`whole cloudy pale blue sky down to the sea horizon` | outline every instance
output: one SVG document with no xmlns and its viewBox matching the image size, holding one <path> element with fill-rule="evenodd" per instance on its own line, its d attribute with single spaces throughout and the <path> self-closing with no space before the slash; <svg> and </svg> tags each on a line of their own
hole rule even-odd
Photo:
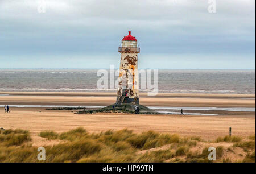
<svg viewBox="0 0 256 174">
<path fill-rule="evenodd" d="M 0 0 L 0 68 L 119 68 L 128 31 L 139 68 L 255 69 L 254 0 Z"/>
</svg>

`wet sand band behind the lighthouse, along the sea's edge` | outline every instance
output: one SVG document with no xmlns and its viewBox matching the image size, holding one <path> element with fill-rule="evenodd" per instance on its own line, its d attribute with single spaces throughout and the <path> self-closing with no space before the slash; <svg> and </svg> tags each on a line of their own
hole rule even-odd
<svg viewBox="0 0 256 174">
<path fill-rule="evenodd" d="M 6 96 L 7 94 L 7 96 Z M 92 93 L 76 93 L 76 95 L 63 95 L 63 93 L 24 93 L 5 92 L 0 95 L 0 105 L 70 105 L 70 106 L 107 106 L 115 102 L 113 93 L 109 96 L 93 96 Z M 159 94 L 160 95 L 160 94 Z M 147 96 L 139 98 L 145 106 L 183 106 L 183 107 L 255 107 L 255 95 L 245 94 L 164 94 L 165 97 Z M 190 96 L 193 97 L 190 97 Z M 197 96 L 197 97 L 196 97 Z M 215 96 L 215 98 L 212 98 Z M 217 98 L 218 97 L 218 98 Z M 251 97 L 251 98 L 250 98 Z"/>
</svg>

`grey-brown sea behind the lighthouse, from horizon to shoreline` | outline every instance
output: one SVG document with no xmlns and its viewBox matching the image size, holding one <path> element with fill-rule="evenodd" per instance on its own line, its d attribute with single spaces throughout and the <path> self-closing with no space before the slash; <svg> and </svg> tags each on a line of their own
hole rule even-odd
<svg viewBox="0 0 256 174">
<path fill-rule="evenodd" d="M 101 70 L 0 69 L 0 91 L 115 92 L 116 89 L 110 88 L 110 85 L 105 89 L 97 87 L 97 81 L 102 77 L 99 71 Z M 109 69 L 106 71 L 109 81 L 113 74 L 109 73 Z M 115 74 L 117 80 L 118 73 Z M 153 78 L 151 84 L 154 84 Z M 255 70 L 158 69 L 158 93 L 255 94 Z"/>
</svg>

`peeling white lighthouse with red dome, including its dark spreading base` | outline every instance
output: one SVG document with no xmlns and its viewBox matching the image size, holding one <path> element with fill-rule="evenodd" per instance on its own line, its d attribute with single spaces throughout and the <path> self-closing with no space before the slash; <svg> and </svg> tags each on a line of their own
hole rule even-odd
<svg viewBox="0 0 256 174">
<path fill-rule="evenodd" d="M 137 39 L 131 35 L 123 37 L 118 52 L 121 53 L 117 100 L 113 105 L 96 110 L 84 110 L 80 113 L 135 113 L 135 114 L 159 114 L 146 106 L 139 104 L 139 76 L 138 53 L 140 48 Z"/>
</svg>

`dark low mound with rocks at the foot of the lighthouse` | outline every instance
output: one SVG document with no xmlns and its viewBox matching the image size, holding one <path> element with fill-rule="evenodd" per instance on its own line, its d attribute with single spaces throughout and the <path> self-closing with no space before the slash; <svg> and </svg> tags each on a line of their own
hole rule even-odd
<svg viewBox="0 0 256 174">
<path fill-rule="evenodd" d="M 135 113 L 135 107 L 139 107 L 139 114 L 159 114 L 157 111 L 149 109 L 146 106 L 132 103 L 123 103 L 118 107 L 115 107 L 115 104 L 106 106 L 101 109 L 94 110 L 83 110 L 77 112 L 77 114 L 92 114 L 92 113 Z"/>
</svg>

